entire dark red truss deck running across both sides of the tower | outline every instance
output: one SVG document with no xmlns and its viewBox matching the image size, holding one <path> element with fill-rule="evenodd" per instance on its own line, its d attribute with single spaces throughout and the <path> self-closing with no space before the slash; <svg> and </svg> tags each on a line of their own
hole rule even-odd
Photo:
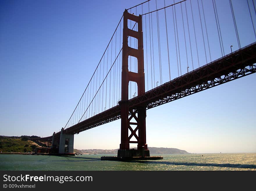
<svg viewBox="0 0 256 191">
<path fill-rule="evenodd" d="M 141 96 L 130 99 L 129 108 L 132 109 L 138 106 L 146 107 L 147 109 L 154 108 L 164 103 L 253 74 L 256 72 L 255 63 L 256 42 L 164 83 Z M 115 106 L 65 129 L 64 132 L 76 134 L 120 119 L 120 117 L 120 107 Z M 55 137 L 58 138 L 59 136 L 60 132 L 56 133 Z M 52 136 L 40 138 L 41 141 L 51 139 Z"/>
</svg>

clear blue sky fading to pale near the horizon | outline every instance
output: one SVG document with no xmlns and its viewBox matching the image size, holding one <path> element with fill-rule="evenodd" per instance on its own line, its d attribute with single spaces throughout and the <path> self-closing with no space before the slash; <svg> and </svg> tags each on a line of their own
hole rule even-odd
<svg viewBox="0 0 256 191">
<path fill-rule="evenodd" d="M 1 1 L 0 135 L 45 137 L 65 126 L 124 9 L 141 2 Z M 205 8 L 210 6 L 209 2 L 204 4 Z M 240 1 L 232 2 L 234 7 L 239 6 Z M 220 5 L 220 1 L 216 3 Z M 246 6 L 241 4 L 241 17 L 236 18 L 241 25 L 242 47 L 255 41 L 249 17 L 243 17 Z M 218 7 L 221 17 L 224 8 Z M 159 11 L 159 17 L 162 14 Z M 222 16 L 227 14 L 224 12 Z M 256 26 L 255 13 L 252 14 Z M 248 30 L 244 31 L 250 33 L 241 31 L 243 22 L 248 22 Z M 232 24 L 232 20 L 221 22 L 222 28 Z M 171 28 L 170 22 L 168 30 Z M 233 50 L 238 49 L 234 31 L 223 31 L 226 31 L 223 32 L 226 53 L 230 44 Z M 183 31 L 179 32 L 182 44 Z M 210 36 L 211 32 L 208 33 Z M 173 32 L 170 30 L 168 34 Z M 210 43 L 214 40 L 210 39 Z M 212 49 L 212 60 L 221 57 L 218 47 Z M 173 73 L 177 74 L 176 69 Z M 168 78 L 168 73 L 164 77 Z M 255 79 L 252 74 L 147 110 L 148 146 L 191 153 L 256 152 Z M 120 120 L 81 132 L 74 139 L 77 149 L 116 149 L 119 144 Z"/>
</svg>

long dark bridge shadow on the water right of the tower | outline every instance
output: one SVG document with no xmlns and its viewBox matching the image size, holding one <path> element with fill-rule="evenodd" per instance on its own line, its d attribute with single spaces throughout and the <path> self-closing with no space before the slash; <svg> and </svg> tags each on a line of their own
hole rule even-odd
<svg viewBox="0 0 256 191">
<path fill-rule="evenodd" d="M 249 168 L 256 169 L 256 165 L 244 165 L 244 164 L 216 164 L 216 163 L 179 163 L 179 162 L 167 162 L 167 161 L 146 161 L 146 160 L 127 160 L 128 163 L 143 163 L 143 164 L 163 164 L 163 165 L 185 165 L 185 166 L 206 166 L 206 167 L 229 167 L 229 168 Z"/>
</svg>

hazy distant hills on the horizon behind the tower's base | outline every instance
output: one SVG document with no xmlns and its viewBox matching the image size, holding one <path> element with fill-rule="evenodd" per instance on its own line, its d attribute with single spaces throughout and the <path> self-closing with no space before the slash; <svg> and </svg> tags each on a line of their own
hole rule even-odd
<svg viewBox="0 0 256 191">
<path fill-rule="evenodd" d="M 157 148 L 157 147 L 148 147 L 150 154 L 187 154 L 187 151 L 175 149 L 175 148 Z M 103 150 L 103 149 L 74 149 L 74 152 L 77 154 L 117 154 L 118 149 L 112 150 Z"/>
</svg>

